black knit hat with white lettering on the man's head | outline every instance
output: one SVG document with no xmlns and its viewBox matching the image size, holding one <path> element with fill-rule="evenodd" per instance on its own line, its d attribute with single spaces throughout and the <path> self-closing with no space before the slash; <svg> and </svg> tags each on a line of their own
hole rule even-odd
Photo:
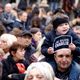
<svg viewBox="0 0 80 80">
<path fill-rule="evenodd" d="M 70 35 L 56 37 L 53 42 L 54 51 L 61 48 L 68 48 L 70 43 L 72 43 L 72 37 Z"/>
</svg>

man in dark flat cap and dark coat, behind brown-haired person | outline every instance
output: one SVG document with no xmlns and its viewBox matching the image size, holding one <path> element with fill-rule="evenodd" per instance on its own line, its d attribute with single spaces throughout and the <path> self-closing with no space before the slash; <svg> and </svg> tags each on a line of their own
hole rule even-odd
<svg viewBox="0 0 80 80">
<path fill-rule="evenodd" d="M 26 46 L 26 48 L 25 48 L 26 51 L 25 51 L 24 57 L 29 65 L 32 62 L 31 56 L 36 51 L 35 48 L 31 44 L 32 43 L 32 34 L 30 31 L 23 31 L 21 33 L 20 37 L 21 37 L 20 40 L 21 40 L 22 44 L 24 44 Z"/>
</svg>

